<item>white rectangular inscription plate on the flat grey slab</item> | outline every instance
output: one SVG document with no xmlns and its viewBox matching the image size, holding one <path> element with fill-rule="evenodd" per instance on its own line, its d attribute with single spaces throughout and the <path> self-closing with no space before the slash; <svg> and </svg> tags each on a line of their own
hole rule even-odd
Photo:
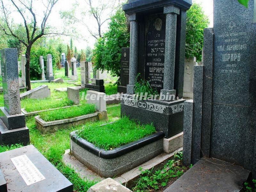
<svg viewBox="0 0 256 192">
<path fill-rule="evenodd" d="M 28 186 L 45 179 L 27 155 L 13 157 L 11 160 Z"/>
</svg>

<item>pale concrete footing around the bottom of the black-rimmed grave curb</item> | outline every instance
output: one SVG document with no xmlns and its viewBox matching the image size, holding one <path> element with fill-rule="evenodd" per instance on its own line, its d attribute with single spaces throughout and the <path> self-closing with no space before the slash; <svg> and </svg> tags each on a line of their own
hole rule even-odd
<svg viewBox="0 0 256 192">
<path fill-rule="evenodd" d="M 119 177 L 114 178 L 114 180 L 122 183 L 122 185 L 126 186 L 127 188 L 132 188 L 135 186 L 134 181 L 139 179 L 141 176 L 140 167 L 144 170 L 148 169 L 156 171 L 163 168 L 164 164 L 167 163 L 169 160 L 174 159 L 174 154 L 180 151 L 182 151 L 182 148 L 179 148 L 178 150 L 170 154 L 161 153 L 160 155 L 133 168 L 132 170 L 123 173 Z M 65 151 L 65 154 L 62 157 L 62 162 L 65 165 L 72 167 L 81 178 L 96 181 L 104 180 L 104 178 L 100 177 L 95 172 L 92 172 L 90 169 L 88 169 L 84 164 L 80 163 L 74 156 L 70 155 L 69 152 L 69 149 Z"/>
</svg>

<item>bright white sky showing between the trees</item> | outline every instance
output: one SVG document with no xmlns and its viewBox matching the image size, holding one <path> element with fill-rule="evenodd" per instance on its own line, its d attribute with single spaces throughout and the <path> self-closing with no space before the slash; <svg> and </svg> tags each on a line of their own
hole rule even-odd
<svg viewBox="0 0 256 192">
<path fill-rule="evenodd" d="M 6 1 L 9 1 L 9 0 L 6 0 Z M 60 11 L 69 10 L 72 7 L 72 4 L 74 4 L 76 1 L 80 4 L 82 4 L 78 7 L 78 10 L 79 10 L 78 12 L 83 11 L 84 7 L 88 6 L 87 4 L 84 3 L 84 0 L 59 0 L 58 3 L 53 7 L 52 13 L 48 19 L 48 24 L 53 26 L 54 28 L 56 28 L 57 31 L 58 30 L 63 31 L 62 30 L 63 28 L 64 28 L 64 31 L 65 31 L 65 29 L 72 30 L 72 28 L 76 28 L 76 30 L 82 36 L 85 37 L 85 40 L 73 39 L 73 45 L 76 46 L 78 50 L 80 50 L 80 49 L 85 49 L 86 46 L 93 47 L 93 45 L 95 43 L 95 38 L 90 35 L 90 33 L 88 32 L 86 27 L 84 27 L 83 25 L 77 23 L 77 25 L 75 25 L 75 26 L 64 26 L 63 20 L 60 18 Z M 97 4 L 99 1 L 92 0 L 92 2 Z M 108 0 L 101 0 L 101 2 L 108 2 Z M 199 3 L 202 5 L 205 15 L 207 15 L 207 17 L 210 20 L 209 27 L 212 27 L 213 26 L 213 0 L 193 0 L 193 3 Z M 42 14 L 41 0 L 34 0 L 33 6 L 35 7 L 36 12 L 38 12 L 38 13 L 41 12 L 41 14 Z M 37 17 L 40 18 L 42 16 L 40 14 L 38 14 Z M 106 17 L 107 17 L 107 15 L 106 15 Z M 17 23 L 20 23 L 22 21 L 22 18 L 20 17 L 20 15 L 18 13 L 12 14 L 12 19 L 14 20 L 14 22 L 17 22 Z M 92 30 L 97 29 L 96 20 L 92 16 L 90 17 L 88 15 L 86 18 L 84 18 L 84 22 L 88 26 L 90 26 L 90 28 Z M 108 27 L 107 24 L 108 23 L 103 25 L 103 32 L 107 30 L 107 27 Z M 62 39 L 64 41 L 63 43 L 69 44 L 70 37 L 62 36 Z"/>
</svg>

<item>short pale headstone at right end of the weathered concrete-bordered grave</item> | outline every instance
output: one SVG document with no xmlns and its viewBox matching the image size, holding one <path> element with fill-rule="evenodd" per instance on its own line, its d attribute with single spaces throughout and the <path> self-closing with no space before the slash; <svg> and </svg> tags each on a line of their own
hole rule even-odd
<svg viewBox="0 0 256 192">
<path fill-rule="evenodd" d="M 98 111 L 106 111 L 106 94 L 88 90 L 86 92 L 87 103 L 95 104 Z"/>
</svg>

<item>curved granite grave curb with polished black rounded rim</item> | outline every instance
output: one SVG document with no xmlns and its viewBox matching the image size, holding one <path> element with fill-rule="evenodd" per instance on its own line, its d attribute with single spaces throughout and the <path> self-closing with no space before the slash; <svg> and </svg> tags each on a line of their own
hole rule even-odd
<svg viewBox="0 0 256 192">
<path fill-rule="evenodd" d="M 108 178 L 121 175 L 162 153 L 163 138 L 164 132 L 156 132 L 121 147 L 105 150 L 74 131 L 70 133 L 70 153 L 101 177 Z"/>
</svg>

